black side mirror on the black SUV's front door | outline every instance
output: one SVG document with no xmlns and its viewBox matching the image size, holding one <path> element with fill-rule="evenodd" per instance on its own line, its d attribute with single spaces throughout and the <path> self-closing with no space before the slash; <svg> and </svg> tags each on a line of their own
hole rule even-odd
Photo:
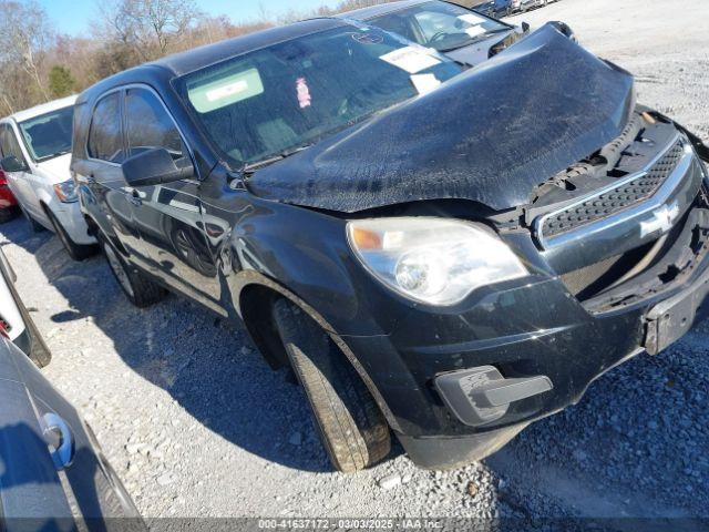
<svg viewBox="0 0 709 532">
<path fill-rule="evenodd" d="M 151 186 L 172 183 L 194 176 L 192 163 L 179 168 L 164 147 L 154 147 L 126 158 L 121 165 L 123 177 L 131 186 Z"/>
</svg>

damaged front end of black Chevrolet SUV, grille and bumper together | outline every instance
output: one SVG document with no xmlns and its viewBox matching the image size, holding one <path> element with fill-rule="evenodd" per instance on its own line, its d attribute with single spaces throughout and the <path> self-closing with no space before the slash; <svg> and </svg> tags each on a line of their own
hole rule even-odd
<svg viewBox="0 0 709 532">
<path fill-rule="evenodd" d="M 528 422 L 577 402 L 610 368 L 643 350 L 661 351 L 703 316 L 703 155 L 697 137 L 636 108 L 620 135 L 538 185 L 527 204 L 473 216 L 496 227 L 531 276 L 480 290 L 452 313 L 417 309 L 392 335 L 467 427 L 442 428 L 440 440 L 404 438 L 419 463 L 484 458 Z M 422 325 L 432 314 L 429 330 Z M 411 332 L 414 324 L 421 332 Z"/>
</svg>

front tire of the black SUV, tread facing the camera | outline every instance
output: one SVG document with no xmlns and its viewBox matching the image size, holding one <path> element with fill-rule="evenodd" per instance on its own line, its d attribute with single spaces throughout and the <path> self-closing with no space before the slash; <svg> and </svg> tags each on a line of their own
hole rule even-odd
<svg viewBox="0 0 709 532">
<path fill-rule="evenodd" d="M 335 469 L 352 473 L 386 458 L 387 420 L 332 339 L 286 299 L 274 304 L 273 316 Z"/>
</svg>

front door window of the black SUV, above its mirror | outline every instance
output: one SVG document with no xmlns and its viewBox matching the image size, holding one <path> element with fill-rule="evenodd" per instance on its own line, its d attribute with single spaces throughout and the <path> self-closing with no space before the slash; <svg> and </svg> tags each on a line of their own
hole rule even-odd
<svg viewBox="0 0 709 532">
<path fill-rule="evenodd" d="M 164 147 L 177 165 L 188 162 L 179 132 L 162 102 L 145 89 L 129 89 L 125 93 L 125 126 L 129 156 L 145 150 Z"/>
</svg>

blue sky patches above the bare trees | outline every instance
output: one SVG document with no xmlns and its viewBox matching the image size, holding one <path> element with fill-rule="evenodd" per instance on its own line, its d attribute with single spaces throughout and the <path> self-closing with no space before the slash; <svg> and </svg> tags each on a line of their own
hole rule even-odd
<svg viewBox="0 0 709 532">
<path fill-rule="evenodd" d="M 39 0 L 61 33 L 82 35 L 97 14 L 97 0 Z M 338 0 L 197 0 L 197 6 L 209 14 L 227 14 L 234 22 L 254 20 L 259 6 L 277 16 L 289 9 L 309 10 L 320 6 L 335 6 Z"/>
</svg>

